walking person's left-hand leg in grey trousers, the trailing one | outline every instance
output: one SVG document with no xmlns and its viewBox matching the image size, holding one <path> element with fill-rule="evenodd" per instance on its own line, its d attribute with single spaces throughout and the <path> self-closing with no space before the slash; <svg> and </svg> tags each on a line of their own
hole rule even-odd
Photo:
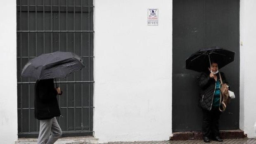
<svg viewBox="0 0 256 144">
<path fill-rule="evenodd" d="M 52 126 L 52 119 L 40 120 L 40 131 L 37 140 L 37 144 L 46 144 L 49 137 Z"/>
</svg>

